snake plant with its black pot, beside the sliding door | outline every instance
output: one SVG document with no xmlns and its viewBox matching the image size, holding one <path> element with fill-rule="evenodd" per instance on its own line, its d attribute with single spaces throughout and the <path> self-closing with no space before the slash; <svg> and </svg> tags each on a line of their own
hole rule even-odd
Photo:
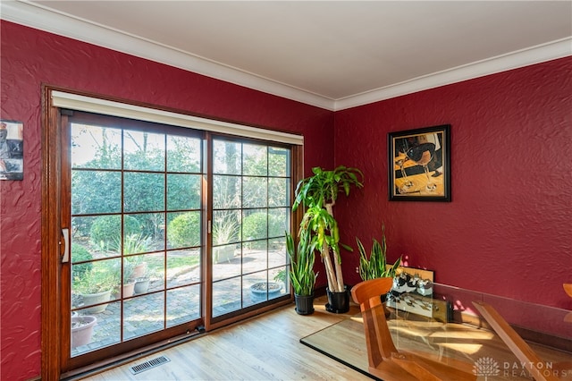
<svg viewBox="0 0 572 381">
<path fill-rule="evenodd" d="M 317 274 L 314 272 L 315 254 L 309 240 L 309 232 L 300 232 L 298 246 L 294 239 L 286 234 L 286 250 L 290 257 L 290 282 L 294 290 L 296 312 L 310 315 L 314 312 L 314 284 Z"/>
</svg>

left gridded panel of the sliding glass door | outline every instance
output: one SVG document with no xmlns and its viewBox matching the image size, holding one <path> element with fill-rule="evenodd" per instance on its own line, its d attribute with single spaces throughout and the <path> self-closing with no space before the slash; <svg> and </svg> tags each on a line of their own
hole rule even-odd
<svg viewBox="0 0 572 381">
<path fill-rule="evenodd" d="M 203 137 L 83 113 L 69 116 L 67 128 L 71 358 L 197 325 Z"/>
</svg>

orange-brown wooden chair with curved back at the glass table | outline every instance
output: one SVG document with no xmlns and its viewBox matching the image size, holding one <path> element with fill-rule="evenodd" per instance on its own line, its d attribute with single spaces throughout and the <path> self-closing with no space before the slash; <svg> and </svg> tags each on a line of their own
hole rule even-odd
<svg viewBox="0 0 572 381">
<path fill-rule="evenodd" d="M 392 278 L 378 278 L 356 284 L 351 289 L 351 296 L 359 304 L 364 319 L 369 372 L 386 381 L 475 380 L 475 375 L 466 363 L 461 364 L 458 361 L 457 366 L 453 367 L 421 355 L 397 350 L 380 298 L 380 295 L 391 290 L 391 284 Z"/>
</svg>

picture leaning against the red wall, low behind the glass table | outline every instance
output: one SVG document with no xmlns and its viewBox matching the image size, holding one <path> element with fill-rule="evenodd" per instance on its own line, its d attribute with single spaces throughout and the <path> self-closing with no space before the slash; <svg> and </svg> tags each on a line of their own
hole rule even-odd
<svg viewBox="0 0 572 381">
<path fill-rule="evenodd" d="M 442 322 L 449 321 L 448 302 L 433 298 L 433 275 L 431 270 L 398 267 L 387 297 L 387 307 Z"/>
</svg>

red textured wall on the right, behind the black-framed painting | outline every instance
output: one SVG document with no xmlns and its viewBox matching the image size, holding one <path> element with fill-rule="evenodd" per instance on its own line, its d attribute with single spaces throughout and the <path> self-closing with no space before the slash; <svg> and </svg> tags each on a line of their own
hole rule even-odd
<svg viewBox="0 0 572 381">
<path fill-rule="evenodd" d="M 439 124 L 452 202 L 388 201 L 387 133 Z M 336 206 L 342 240 L 369 246 L 384 222 L 391 261 L 439 283 L 572 308 L 572 57 L 338 112 L 334 144 L 336 165 L 366 175 Z"/>
</svg>

